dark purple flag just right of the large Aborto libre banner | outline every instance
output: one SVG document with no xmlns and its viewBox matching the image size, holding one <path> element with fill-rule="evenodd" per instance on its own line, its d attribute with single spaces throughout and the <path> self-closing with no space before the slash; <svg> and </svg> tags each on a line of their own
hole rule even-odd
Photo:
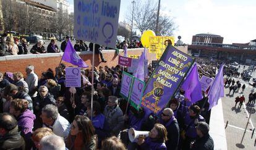
<svg viewBox="0 0 256 150">
<path fill-rule="evenodd" d="M 202 89 L 198 78 L 197 65 L 195 64 L 190 71 L 189 75 L 183 82 L 182 89 L 185 90 L 185 97 L 192 101 L 192 103 L 197 102 L 202 99 Z"/>
</svg>

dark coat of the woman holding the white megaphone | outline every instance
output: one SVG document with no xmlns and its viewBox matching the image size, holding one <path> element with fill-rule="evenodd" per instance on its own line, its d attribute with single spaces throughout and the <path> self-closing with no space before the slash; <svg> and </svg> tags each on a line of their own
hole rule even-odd
<svg viewBox="0 0 256 150">
<path fill-rule="evenodd" d="M 147 150 L 166 150 L 166 145 L 163 142 L 154 141 L 152 138 L 146 138 L 145 142 L 139 146 L 140 149 Z"/>
</svg>

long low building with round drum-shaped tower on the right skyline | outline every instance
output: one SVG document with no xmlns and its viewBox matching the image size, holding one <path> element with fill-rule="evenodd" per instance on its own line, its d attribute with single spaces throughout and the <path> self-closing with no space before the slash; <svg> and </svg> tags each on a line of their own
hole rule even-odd
<svg viewBox="0 0 256 150">
<path fill-rule="evenodd" d="M 223 37 L 210 34 L 196 34 L 188 52 L 195 57 L 228 59 L 241 63 L 256 64 L 256 39 L 248 43 L 223 44 Z"/>
</svg>

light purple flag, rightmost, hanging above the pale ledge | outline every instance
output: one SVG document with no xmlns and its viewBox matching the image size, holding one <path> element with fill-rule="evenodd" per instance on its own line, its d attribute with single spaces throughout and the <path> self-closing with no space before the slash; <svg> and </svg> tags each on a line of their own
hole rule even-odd
<svg viewBox="0 0 256 150">
<path fill-rule="evenodd" d="M 223 65 L 221 65 L 220 70 L 208 92 L 208 102 L 210 104 L 209 110 L 213 108 L 213 106 L 218 105 L 218 100 L 221 97 L 224 97 Z"/>
</svg>

